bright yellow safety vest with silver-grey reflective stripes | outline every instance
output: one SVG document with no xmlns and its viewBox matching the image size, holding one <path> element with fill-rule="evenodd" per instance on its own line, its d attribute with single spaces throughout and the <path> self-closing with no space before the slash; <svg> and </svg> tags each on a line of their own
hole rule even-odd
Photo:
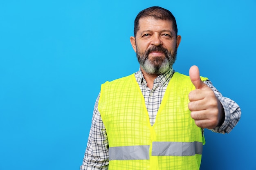
<svg viewBox="0 0 256 170">
<path fill-rule="evenodd" d="M 194 89 L 189 76 L 174 73 L 151 126 L 134 74 L 102 84 L 109 170 L 199 170 L 204 137 L 188 109 Z"/>
</svg>

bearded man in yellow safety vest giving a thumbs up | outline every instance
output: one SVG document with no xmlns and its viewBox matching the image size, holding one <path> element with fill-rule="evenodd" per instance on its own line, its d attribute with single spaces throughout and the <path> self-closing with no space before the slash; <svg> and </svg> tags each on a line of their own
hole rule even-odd
<svg viewBox="0 0 256 170">
<path fill-rule="evenodd" d="M 140 69 L 101 86 L 80 170 L 199 170 L 203 128 L 229 133 L 239 106 L 200 77 L 173 70 L 181 36 L 172 13 L 141 11 L 130 37 Z"/>
</svg>

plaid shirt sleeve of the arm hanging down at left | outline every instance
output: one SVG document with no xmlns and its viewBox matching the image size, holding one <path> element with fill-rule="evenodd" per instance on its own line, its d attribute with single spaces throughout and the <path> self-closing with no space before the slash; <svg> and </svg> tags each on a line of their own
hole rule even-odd
<svg viewBox="0 0 256 170">
<path fill-rule="evenodd" d="M 80 170 L 108 170 L 108 137 L 98 110 L 100 93 L 94 105 L 92 125 Z"/>
</svg>

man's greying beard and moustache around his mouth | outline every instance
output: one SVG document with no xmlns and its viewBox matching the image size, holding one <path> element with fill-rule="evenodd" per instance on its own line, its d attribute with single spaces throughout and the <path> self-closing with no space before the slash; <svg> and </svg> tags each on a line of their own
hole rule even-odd
<svg viewBox="0 0 256 170">
<path fill-rule="evenodd" d="M 138 51 L 138 50 L 136 50 Z M 148 60 L 148 55 L 151 51 L 162 51 L 164 52 L 164 59 L 160 57 L 155 57 L 154 60 Z M 174 64 L 177 55 L 177 48 L 171 54 L 169 51 L 163 47 L 153 47 L 145 51 L 145 53 L 136 52 L 138 62 L 141 68 L 146 71 L 146 73 L 151 75 L 160 75 L 166 73 Z"/>
</svg>

